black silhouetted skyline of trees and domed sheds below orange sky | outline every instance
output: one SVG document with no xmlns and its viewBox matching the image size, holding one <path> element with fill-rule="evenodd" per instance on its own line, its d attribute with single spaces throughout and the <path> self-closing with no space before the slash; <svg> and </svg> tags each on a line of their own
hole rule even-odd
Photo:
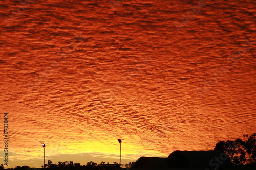
<svg viewBox="0 0 256 170">
<path fill-rule="evenodd" d="M 219 141 L 212 151 L 174 151 L 168 158 L 140 157 L 136 162 L 122 165 L 123 169 L 213 169 L 250 170 L 256 169 L 256 133 L 243 135 L 243 139 Z M 1 164 L 0 170 L 4 170 Z M 16 166 L 7 170 L 32 170 L 29 166 Z M 87 170 L 105 169 L 119 170 L 120 164 L 102 161 L 100 164 L 90 161 L 86 165 L 73 162 L 58 162 L 53 164 L 51 160 L 36 170 Z"/>
</svg>

